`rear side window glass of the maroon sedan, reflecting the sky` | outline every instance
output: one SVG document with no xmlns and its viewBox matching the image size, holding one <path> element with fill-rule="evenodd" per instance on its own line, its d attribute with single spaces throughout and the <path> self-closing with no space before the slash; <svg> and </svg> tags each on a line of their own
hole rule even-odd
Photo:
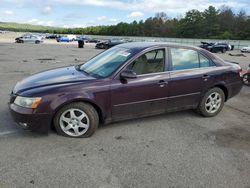
<svg viewBox="0 0 250 188">
<path fill-rule="evenodd" d="M 211 62 L 195 50 L 171 48 L 172 70 L 209 67 Z"/>
</svg>

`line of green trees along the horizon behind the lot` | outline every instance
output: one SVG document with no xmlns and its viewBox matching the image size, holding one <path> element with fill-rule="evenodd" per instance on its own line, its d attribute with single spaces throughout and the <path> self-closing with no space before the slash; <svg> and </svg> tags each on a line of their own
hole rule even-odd
<svg viewBox="0 0 250 188">
<path fill-rule="evenodd" d="M 190 10 L 182 18 L 169 18 L 167 13 L 159 12 L 139 22 L 85 28 L 47 27 L 39 31 L 58 34 L 250 40 L 250 16 L 244 10 L 234 13 L 227 6 L 220 9 L 209 6 L 204 11 Z"/>
</svg>

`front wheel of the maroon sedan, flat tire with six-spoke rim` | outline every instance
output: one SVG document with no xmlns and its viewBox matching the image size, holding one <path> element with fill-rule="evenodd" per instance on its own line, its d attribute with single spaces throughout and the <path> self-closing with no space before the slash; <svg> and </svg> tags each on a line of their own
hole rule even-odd
<svg viewBox="0 0 250 188">
<path fill-rule="evenodd" d="M 84 102 L 63 106 L 54 117 L 58 134 L 74 138 L 87 138 L 94 134 L 99 124 L 95 108 Z"/>
</svg>

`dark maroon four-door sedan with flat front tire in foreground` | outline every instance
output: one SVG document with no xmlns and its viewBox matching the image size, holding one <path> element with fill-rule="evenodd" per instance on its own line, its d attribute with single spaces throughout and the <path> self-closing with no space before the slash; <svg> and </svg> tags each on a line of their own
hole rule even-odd
<svg viewBox="0 0 250 188">
<path fill-rule="evenodd" d="M 89 137 L 100 123 L 197 109 L 217 115 L 239 93 L 240 67 L 200 48 L 126 43 L 88 62 L 34 74 L 12 91 L 13 118 L 28 129 Z"/>
</svg>

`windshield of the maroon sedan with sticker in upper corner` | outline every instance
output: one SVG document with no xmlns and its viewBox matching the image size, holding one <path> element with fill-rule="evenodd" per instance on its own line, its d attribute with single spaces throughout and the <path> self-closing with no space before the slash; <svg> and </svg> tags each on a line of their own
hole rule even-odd
<svg viewBox="0 0 250 188">
<path fill-rule="evenodd" d="M 111 75 L 132 55 L 130 49 L 113 47 L 82 64 L 80 70 L 91 76 L 104 78 Z"/>
</svg>

